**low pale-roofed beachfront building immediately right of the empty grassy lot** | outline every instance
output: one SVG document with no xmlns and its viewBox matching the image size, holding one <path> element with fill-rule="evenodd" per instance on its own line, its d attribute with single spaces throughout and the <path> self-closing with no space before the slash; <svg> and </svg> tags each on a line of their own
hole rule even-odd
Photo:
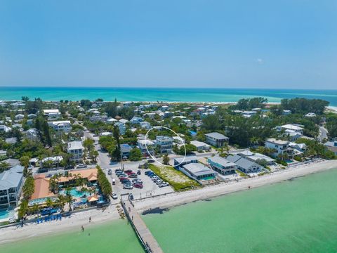
<svg viewBox="0 0 337 253">
<path fill-rule="evenodd" d="M 186 176 L 189 176 L 195 180 L 215 179 L 217 176 L 217 173 L 209 169 L 209 167 L 195 162 L 183 165 L 180 171 L 182 171 Z"/>
</svg>

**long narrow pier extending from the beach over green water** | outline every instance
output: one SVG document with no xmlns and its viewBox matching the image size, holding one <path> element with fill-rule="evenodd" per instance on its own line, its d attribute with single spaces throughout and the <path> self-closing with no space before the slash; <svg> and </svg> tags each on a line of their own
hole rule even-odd
<svg viewBox="0 0 337 253">
<path fill-rule="evenodd" d="M 133 206 L 131 200 L 122 200 L 121 206 L 123 207 L 128 221 L 131 223 L 131 226 L 133 226 L 133 229 L 138 235 L 140 242 L 142 242 L 146 252 L 164 253 L 157 240 L 154 239 L 154 236 L 150 232 L 149 228 L 147 228 L 145 222 L 140 217 L 140 214 L 136 211 L 136 208 Z"/>
</svg>

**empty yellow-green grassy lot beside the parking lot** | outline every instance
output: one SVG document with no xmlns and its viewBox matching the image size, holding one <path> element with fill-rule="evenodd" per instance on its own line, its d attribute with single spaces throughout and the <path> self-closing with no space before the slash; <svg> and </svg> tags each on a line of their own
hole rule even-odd
<svg viewBox="0 0 337 253">
<path fill-rule="evenodd" d="M 183 172 L 178 171 L 171 166 L 158 167 L 154 164 L 149 164 L 149 169 L 157 174 L 162 180 L 168 182 L 174 188 L 174 190 L 184 190 L 187 188 L 200 186 L 197 181 L 190 179 L 188 176 L 183 174 Z"/>
</svg>

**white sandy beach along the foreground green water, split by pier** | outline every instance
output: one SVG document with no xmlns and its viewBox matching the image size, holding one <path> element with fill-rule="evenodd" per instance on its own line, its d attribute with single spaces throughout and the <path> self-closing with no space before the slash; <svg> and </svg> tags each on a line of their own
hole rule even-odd
<svg viewBox="0 0 337 253">
<path fill-rule="evenodd" d="M 248 190 L 249 187 L 257 188 L 272 183 L 279 183 L 333 168 L 337 168 L 337 160 L 301 164 L 298 167 L 276 171 L 273 174 L 267 174 L 265 176 L 243 179 L 239 182 L 220 183 L 218 185 L 205 186 L 204 188 L 197 190 L 188 190 L 181 193 L 171 193 L 164 196 L 147 198 L 145 200 L 136 200 L 134 201 L 134 204 L 136 209 L 138 209 L 138 212 L 143 212 L 156 207 L 169 208 L 197 200 L 206 200 L 211 197 L 234 193 L 240 190 Z M 91 216 L 91 223 L 88 221 L 89 216 Z M 23 228 L 18 226 L 1 228 L 0 244 L 41 235 L 60 233 L 62 231 L 80 230 L 81 226 L 94 226 L 95 224 L 105 223 L 114 219 L 119 219 L 119 214 L 116 205 L 110 205 L 104 212 L 100 209 L 78 212 L 72 214 L 71 218 L 62 219 L 62 221 L 51 221 L 41 224 L 27 223 Z"/>
</svg>

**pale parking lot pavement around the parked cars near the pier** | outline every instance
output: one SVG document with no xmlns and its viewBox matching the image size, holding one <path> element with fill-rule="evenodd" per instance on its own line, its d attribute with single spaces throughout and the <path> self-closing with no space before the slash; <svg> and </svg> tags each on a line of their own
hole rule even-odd
<svg viewBox="0 0 337 253">
<path fill-rule="evenodd" d="M 139 199 L 142 197 L 149 197 L 152 195 L 161 195 L 164 193 L 172 193 L 174 190 L 173 188 L 171 188 L 171 186 L 166 186 L 166 187 L 162 187 L 159 188 L 159 186 L 157 186 L 156 183 L 154 183 L 154 181 L 151 180 L 151 178 L 149 176 L 145 175 L 145 171 L 147 171 L 148 169 L 140 169 L 140 175 L 138 175 L 138 179 L 140 179 L 141 181 L 143 181 L 143 188 L 133 188 L 133 189 L 124 189 L 123 188 L 123 183 L 121 183 L 118 179 L 118 176 L 115 174 L 115 169 L 119 169 L 119 167 L 112 167 L 112 174 L 108 175 L 107 171 L 108 169 L 105 169 L 105 172 L 107 174 L 107 177 L 109 177 L 112 181 L 112 179 L 115 179 L 116 184 L 114 186 L 112 186 L 112 191 L 114 193 L 117 194 L 118 199 L 117 200 L 112 200 L 112 203 L 117 203 L 120 201 L 120 195 L 124 194 L 124 193 L 132 193 L 133 197 L 135 199 Z M 124 170 L 128 170 L 131 168 L 126 168 L 124 167 Z M 138 171 L 138 167 L 132 167 L 132 170 L 134 172 Z M 132 181 L 133 179 L 130 179 L 130 181 Z"/>
</svg>

